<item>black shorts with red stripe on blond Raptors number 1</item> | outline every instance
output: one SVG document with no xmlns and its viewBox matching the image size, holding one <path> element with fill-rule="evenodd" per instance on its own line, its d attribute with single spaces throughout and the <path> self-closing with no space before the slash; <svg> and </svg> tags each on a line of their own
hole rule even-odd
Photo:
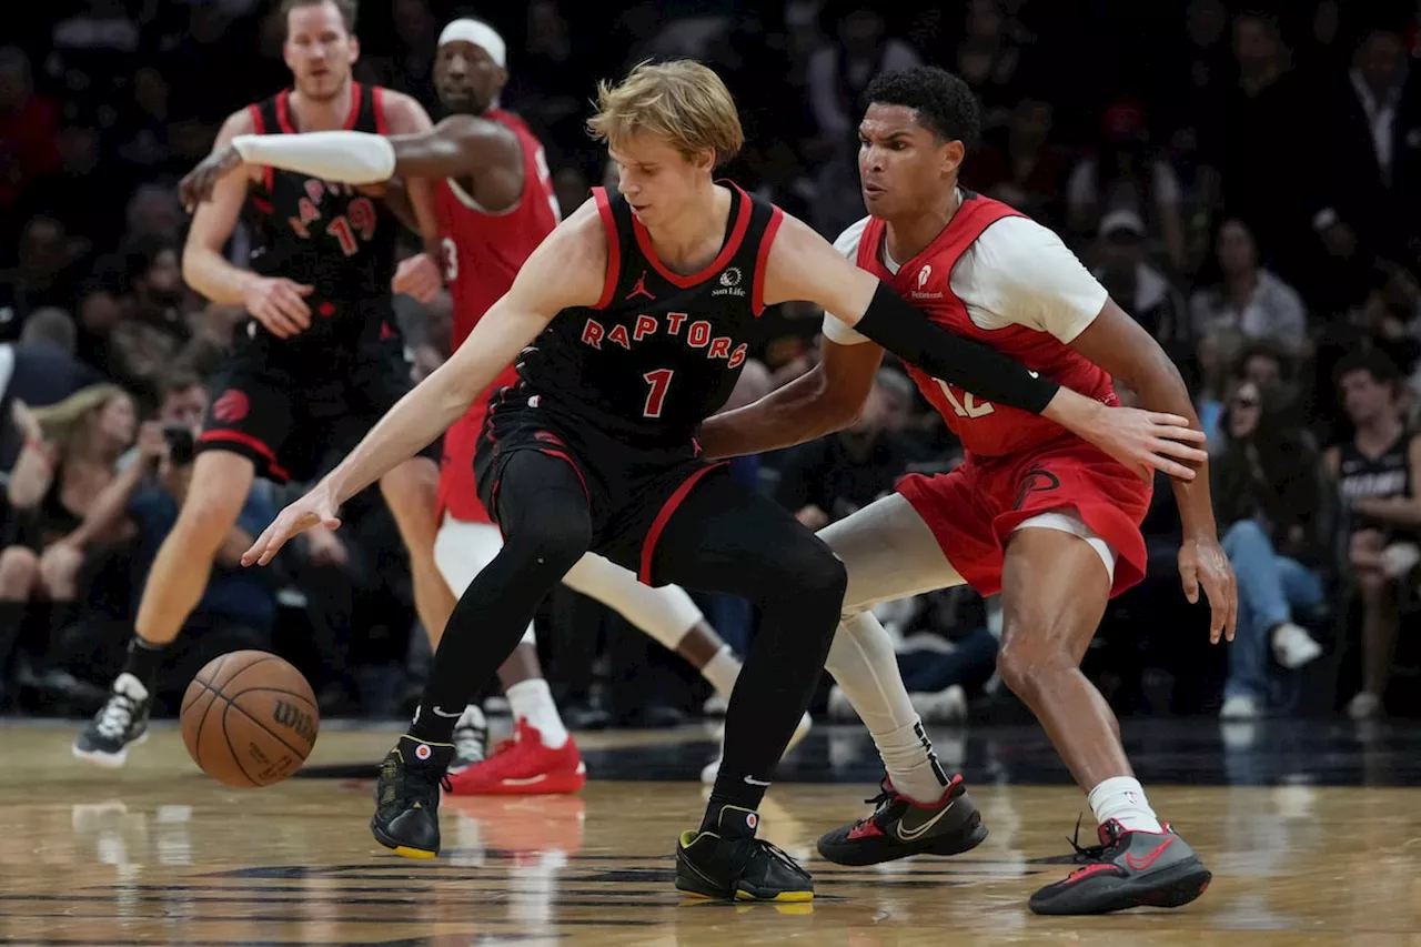
<svg viewBox="0 0 1421 947">
<path fill-rule="evenodd" d="M 587 492 L 595 552 L 632 570 L 648 586 L 665 584 L 652 574 L 657 540 L 691 488 L 725 468 L 701 459 L 695 441 L 674 448 L 624 444 L 576 418 L 529 404 L 526 392 L 506 390 L 489 405 L 489 417 L 473 456 L 479 499 L 499 522 L 499 482 L 509 458 L 537 451 L 567 461 Z"/>
</svg>

